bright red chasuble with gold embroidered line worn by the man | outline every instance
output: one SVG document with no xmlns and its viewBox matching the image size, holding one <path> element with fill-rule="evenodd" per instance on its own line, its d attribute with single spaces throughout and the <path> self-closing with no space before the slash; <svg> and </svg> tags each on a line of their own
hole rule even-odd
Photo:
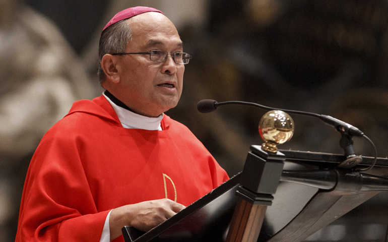
<svg viewBox="0 0 388 242">
<path fill-rule="evenodd" d="M 99 241 L 113 208 L 166 197 L 188 206 L 228 179 L 185 126 L 167 115 L 161 126 L 122 128 L 103 96 L 75 102 L 31 160 L 16 241 Z"/>
</svg>

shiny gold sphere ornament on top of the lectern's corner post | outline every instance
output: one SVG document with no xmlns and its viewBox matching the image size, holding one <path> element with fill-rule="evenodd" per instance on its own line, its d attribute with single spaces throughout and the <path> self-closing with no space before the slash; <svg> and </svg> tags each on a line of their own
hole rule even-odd
<svg viewBox="0 0 388 242">
<path fill-rule="evenodd" d="M 280 110 L 271 110 L 263 115 L 258 124 L 258 132 L 266 143 L 262 149 L 272 153 L 278 151 L 277 145 L 289 141 L 294 134 L 294 120 Z"/>
</svg>

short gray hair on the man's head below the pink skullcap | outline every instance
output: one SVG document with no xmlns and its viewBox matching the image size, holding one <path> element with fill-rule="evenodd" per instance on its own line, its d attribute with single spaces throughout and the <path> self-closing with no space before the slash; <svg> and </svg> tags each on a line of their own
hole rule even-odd
<svg viewBox="0 0 388 242">
<path fill-rule="evenodd" d="M 126 45 L 132 39 L 132 31 L 127 19 L 121 20 L 106 28 L 100 37 L 98 47 L 98 56 L 100 58 L 98 68 L 98 78 L 102 85 L 106 79 L 105 73 L 101 68 L 102 56 L 109 53 L 125 52 Z"/>
</svg>

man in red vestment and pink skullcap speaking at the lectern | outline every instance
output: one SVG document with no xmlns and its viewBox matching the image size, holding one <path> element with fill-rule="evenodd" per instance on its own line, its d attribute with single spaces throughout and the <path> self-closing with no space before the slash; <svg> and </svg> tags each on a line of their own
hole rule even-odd
<svg viewBox="0 0 388 242">
<path fill-rule="evenodd" d="M 123 240 L 148 231 L 228 179 L 188 129 L 163 112 L 182 92 L 182 41 L 160 11 L 135 7 L 105 26 L 103 96 L 73 104 L 35 151 L 16 241 Z"/>
</svg>

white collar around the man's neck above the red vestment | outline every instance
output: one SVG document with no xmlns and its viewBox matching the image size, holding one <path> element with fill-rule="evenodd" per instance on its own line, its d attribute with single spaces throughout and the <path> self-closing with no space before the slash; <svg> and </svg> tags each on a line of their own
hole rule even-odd
<svg viewBox="0 0 388 242">
<path fill-rule="evenodd" d="M 123 128 L 140 130 L 162 130 L 160 122 L 163 119 L 163 113 L 157 117 L 143 116 L 116 105 L 105 95 L 105 93 L 102 93 L 102 95 L 104 95 L 106 100 L 108 100 L 110 105 L 113 107 Z"/>
</svg>

